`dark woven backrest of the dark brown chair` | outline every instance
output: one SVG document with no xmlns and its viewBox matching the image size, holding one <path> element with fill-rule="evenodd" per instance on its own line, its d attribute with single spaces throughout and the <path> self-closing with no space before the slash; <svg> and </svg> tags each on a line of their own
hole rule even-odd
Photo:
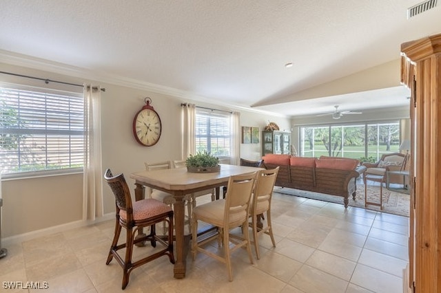
<svg viewBox="0 0 441 293">
<path fill-rule="evenodd" d="M 115 196 L 116 213 L 119 214 L 119 210 L 125 210 L 127 215 L 132 215 L 132 198 L 130 197 L 130 189 L 127 186 L 124 175 L 121 173 L 114 176 L 112 171 L 107 169 L 104 173 L 104 179 Z"/>
</svg>

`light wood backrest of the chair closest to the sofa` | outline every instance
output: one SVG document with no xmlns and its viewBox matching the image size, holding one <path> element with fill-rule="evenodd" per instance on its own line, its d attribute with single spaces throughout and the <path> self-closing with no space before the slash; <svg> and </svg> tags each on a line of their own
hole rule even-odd
<svg viewBox="0 0 441 293">
<path fill-rule="evenodd" d="M 251 213 L 256 213 L 256 208 L 264 208 L 269 210 L 271 207 L 271 197 L 273 195 L 274 184 L 278 174 L 278 166 L 275 169 L 260 170 L 256 175 L 256 184 L 254 185 L 253 200 L 251 206 Z M 260 210 L 262 213 L 264 210 Z"/>
</svg>

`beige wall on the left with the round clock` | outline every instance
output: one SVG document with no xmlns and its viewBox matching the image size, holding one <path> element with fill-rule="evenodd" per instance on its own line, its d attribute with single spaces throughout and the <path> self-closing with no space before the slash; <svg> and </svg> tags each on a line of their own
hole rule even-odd
<svg viewBox="0 0 441 293">
<path fill-rule="evenodd" d="M 74 76 L 41 72 L 13 65 L 0 64 L 5 72 L 14 72 L 83 84 L 85 80 Z M 77 74 L 74 74 L 77 75 Z M 46 87 L 42 81 L 16 78 L 1 74 L 1 81 L 24 83 Z M 101 94 L 101 131 L 103 142 L 103 172 L 106 168 L 114 173 L 124 173 L 127 183 L 134 187 L 130 173 L 144 169 L 144 162 L 181 159 L 181 102 L 194 102 L 166 94 L 156 94 L 143 89 L 123 87 L 110 83 L 97 83 L 105 87 Z M 61 88 L 50 83 L 49 87 Z M 78 88 L 72 87 L 78 91 Z M 82 91 L 82 89 L 80 88 Z M 152 106 L 161 116 L 163 130 L 161 139 L 151 147 L 138 144 L 132 134 L 132 121 L 135 113 L 143 107 L 144 98 L 152 98 Z M 216 105 L 196 105 L 223 109 Z M 228 110 L 234 110 L 229 108 Z M 289 129 L 288 118 L 266 115 L 252 111 L 240 111 L 240 126 L 259 127 L 260 131 L 267 121 L 276 122 L 281 128 Z M 243 158 L 260 158 L 261 144 L 240 144 Z M 23 180 L 3 178 L 3 239 L 14 241 L 35 231 L 50 230 L 54 227 L 72 224 L 82 219 L 82 174 L 52 177 L 37 177 Z M 133 196 L 133 195 L 132 195 Z M 114 213 L 114 197 L 103 182 L 104 212 Z M 8 239 L 9 238 L 9 239 Z"/>
</svg>

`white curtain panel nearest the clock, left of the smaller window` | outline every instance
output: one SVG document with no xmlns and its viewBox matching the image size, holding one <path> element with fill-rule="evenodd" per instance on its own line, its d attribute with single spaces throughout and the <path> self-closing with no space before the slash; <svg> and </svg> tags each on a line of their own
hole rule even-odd
<svg viewBox="0 0 441 293">
<path fill-rule="evenodd" d="M 196 153 L 196 105 L 181 104 L 182 111 L 182 130 L 183 133 L 183 148 L 182 160 L 189 157 L 190 154 Z"/>
</svg>

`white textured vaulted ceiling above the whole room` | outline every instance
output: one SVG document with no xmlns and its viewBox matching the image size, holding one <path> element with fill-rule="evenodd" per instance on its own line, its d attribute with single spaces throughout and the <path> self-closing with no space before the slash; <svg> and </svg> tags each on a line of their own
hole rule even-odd
<svg viewBox="0 0 441 293">
<path fill-rule="evenodd" d="M 2 0 L 0 61 L 20 54 L 287 116 L 333 111 L 334 105 L 342 111 L 408 105 L 400 87 L 294 97 L 394 61 L 402 43 L 440 33 L 441 5 L 408 20 L 407 8 L 417 3 Z"/>
</svg>

